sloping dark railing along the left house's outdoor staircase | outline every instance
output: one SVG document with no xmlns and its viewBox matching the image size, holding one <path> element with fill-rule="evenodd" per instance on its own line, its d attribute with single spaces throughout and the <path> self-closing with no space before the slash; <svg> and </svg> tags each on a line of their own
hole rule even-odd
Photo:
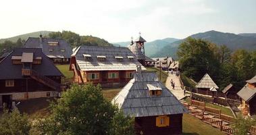
<svg viewBox="0 0 256 135">
<path fill-rule="evenodd" d="M 47 78 L 45 76 L 41 76 L 39 73 L 37 73 L 34 70 L 31 70 L 30 72 L 31 72 L 31 74 L 30 74 L 31 78 L 49 86 L 50 88 L 53 88 L 54 90 L 61 90 L 61 88 L 63 88 L 61 86 L 61 84 L 51 80 L 50 78 Z"/>
</svg>

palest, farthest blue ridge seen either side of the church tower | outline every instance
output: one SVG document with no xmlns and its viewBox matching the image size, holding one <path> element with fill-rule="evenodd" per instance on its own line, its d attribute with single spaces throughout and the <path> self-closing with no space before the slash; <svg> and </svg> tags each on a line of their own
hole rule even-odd
<svg viewBox="0 0 256 135">
<path fill-rule="evenodd" d="M 155 53 L 157 53 L 158 50 L 162 49 L 166 45 L 170 45 L 170 43 L 173 43 L 175 41 L 179 41 L 177 38 L 164 38 L 164 39 L 158 39 L 151 42 L 145 43 L 145 54 L 147 56 L 151 56 Z M 120 42 L 120 43 L 112 43 L 116 47 L 128 47 L 130 45 L 130 41 L 127 42 Z"/>
</svg>

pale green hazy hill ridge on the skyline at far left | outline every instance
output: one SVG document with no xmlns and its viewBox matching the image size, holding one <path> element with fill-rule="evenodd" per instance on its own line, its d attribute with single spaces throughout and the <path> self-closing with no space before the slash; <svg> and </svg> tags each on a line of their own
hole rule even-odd
<svg viewBox="0 0 256 135">
<path fill-rule="evenodd" d="M 22 40 L 26 41 L 28 37 L 39 37 L 40 34 L 42 34 L 43 36 L 48 36 L 50 32 L 51 31 L 39 31 L 39 32 L 31 32 L 27 34 L 21 34 L 21 35 L 10 37 L 10 38 L 1 38 L 0 43 L 4 43 L 7 40 L 16 43 L 18 38 L 21 38 Z"/>
</svg>

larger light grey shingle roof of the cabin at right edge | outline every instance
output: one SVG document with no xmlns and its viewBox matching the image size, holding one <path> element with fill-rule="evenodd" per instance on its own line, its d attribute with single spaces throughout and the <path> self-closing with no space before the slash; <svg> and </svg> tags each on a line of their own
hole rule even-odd
<svg viewBox="0 0 256 135">
<path fill-rule="evenodd" d="M 255 96 L 256 88 L 249 88 L 247 83 L 240 91 L 237 92 L 237 94 L 240 98 L 248 102 Z"/>
</svg>

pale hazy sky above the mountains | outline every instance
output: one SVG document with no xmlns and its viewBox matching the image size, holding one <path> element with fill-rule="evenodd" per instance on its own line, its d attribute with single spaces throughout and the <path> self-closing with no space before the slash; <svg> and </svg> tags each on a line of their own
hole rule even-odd
<svg viewBox="0 0 256 135">
<path fill-rule="evenodd" d="M 71 30 L 109 42 L 190 34 L 256 32 L 255 0 L 8 0 L 0 2 L 0 38 Z"/>
</svg>

